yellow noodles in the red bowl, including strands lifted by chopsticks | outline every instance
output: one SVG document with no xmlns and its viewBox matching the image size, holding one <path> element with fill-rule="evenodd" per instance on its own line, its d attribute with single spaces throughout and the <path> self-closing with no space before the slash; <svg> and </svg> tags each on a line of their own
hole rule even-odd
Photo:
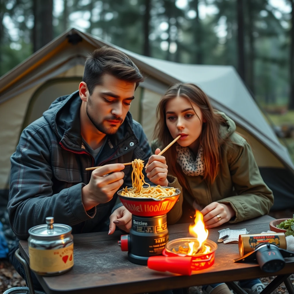
<svg viewBox="0 0 294 294">
<path fill-rule="evenodd" d="M 133 188 L 127 189 L 127 187 L 121 192 L 122 196 L 127 197 L 140 197 L 140 198 L 156 198 L 163 199 L 175 195 L 175 188 L 163 188 L 160 185 L 151 187 L 144 181 L 144 175 L 142 173 L 144 164 L 141 159 L 135 159 L 132 161 L 132 186 Z M 147 188 L 143 188 L 143 184 L 146 184 Z"/>
</svg>

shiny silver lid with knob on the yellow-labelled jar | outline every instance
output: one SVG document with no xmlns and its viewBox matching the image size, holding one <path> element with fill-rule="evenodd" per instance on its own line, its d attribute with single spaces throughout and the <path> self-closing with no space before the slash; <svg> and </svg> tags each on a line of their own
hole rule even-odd
<svg viewBox="0 0 294 294">
<path fill-rule="evenodd" d="M 60 237 L 64 238 L 71 233 L 71 226 L 64 224 L 54 224 L 54 217 L 46 218 L 47 225 L 36 225 L 29 229 L 29 234 L 34 237 Z"/>
</svg>

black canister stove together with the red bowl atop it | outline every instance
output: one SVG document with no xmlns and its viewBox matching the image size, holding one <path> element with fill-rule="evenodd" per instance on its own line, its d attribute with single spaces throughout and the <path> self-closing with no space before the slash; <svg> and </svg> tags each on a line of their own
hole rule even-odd
<svg viewBox="0 0 294 294">
<path fill-rule="evenodd" d="M 147 265 L 148 257 L 161 255 L 165 248 L 168 241 L 166 213 L 173 208 L 181 191 L 176 189 L 174 196 L 162 200 L 126 197 L 121 195 L 122 191 L 118 191 L 118 196 L 132 213 L 132 227 L 129 235 L 122 235 L 118 244 L 122 251 L 128 251 L 129 261 Z"/>
</svg>

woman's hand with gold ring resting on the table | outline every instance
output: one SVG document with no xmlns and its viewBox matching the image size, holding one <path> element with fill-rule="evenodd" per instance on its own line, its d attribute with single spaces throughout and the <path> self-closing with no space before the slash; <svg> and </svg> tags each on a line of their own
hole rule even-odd
<svg viewBox="0 0 294 294">
<path fill-rule="evenodd" d="M 229 203 L 212 202 L 202 209 L 203 221 L 207 229 L 218 227 L 236 215 Z M 220 220 L 217 216 L 220 216 Z"/>
</svg>

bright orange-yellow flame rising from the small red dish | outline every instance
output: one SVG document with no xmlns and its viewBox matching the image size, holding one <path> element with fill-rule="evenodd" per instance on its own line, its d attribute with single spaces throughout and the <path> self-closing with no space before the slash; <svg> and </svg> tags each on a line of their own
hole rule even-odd
<svg viewBox="0 0 294 294">
<path fill-rule="evenodd" d="M 189 226 L 189 233 L 197 238 L 199 245 L 198 247 L 194 250 L 194 242 L 190 242 L 189 243 L 189 252 L 188 255 L 192 255 L 193 252 L 196 251 L 196 253 L 199 251 L 199 249 L 202 247 L 203 242 L 207 239 L 208 237 L 208 230 L 205 228 L 204 226 L 204 222 L 203 222 L 203 215 L 200 211 L 196 210 L 196 215 L 195 215 L 195 224 L 194 225 L 190 225 Z M 193 243 L 193 244 L 192 244 Z M 202 253 L 207 253 L 209 252 L 210 247 L 207 245 L 203 246 L 203 250 Z"/>
</svg>

